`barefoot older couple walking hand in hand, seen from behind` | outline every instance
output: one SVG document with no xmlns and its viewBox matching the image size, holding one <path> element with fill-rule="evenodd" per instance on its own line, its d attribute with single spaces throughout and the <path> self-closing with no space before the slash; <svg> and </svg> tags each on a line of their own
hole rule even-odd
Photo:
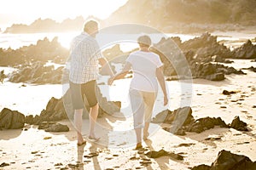
<svg viewBox="0 0 256 170">
<path fill-rule="evenodd" d="M 136 149 L 140 149 L 143 147 L 142 138 L 148 138 L 148 127 L 158 92 L 158 82 L 160 82 L 160 88 L 164 94 L 164 105 L 168 103 L 166 83 L 162 72 L 163 64 L 160 61 L 159 55 L 149 51 L 151 45 L 150 37 L 142 36 L 137 39 L 139 50 L 129 55 L 123 71 L 113 75 L 113 71 L 108 65 L 108 61 L 103 57 L 95 39 L 98 29 L 98 23 L 95 20 L 89 20 L 84 24 L 84 31 L 73 39 L 71 45 L 69 84 L 72 93 L 74 124 L 77 129 L 78 144 L 86 143 L 81 133 L 84 97 L 90 105 L 90 131 L 88 139 L 92 141 L 100 139 L 95 133 L 99 107 L 95 90 L 99 63 L 106 67 L 108 71 L 110 76 L 108 79 L 109 85 L 114 80 L 124 78 L 129 71 L 133 71 L 129 94 L 134 129 L 137 136 Z"/>
</svg>

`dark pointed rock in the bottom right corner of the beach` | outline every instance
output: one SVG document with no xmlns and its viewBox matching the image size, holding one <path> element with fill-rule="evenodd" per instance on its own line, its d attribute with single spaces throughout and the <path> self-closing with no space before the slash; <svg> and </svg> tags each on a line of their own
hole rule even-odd
<svg viewBox="0 0 256 170">
<path fill-rule="evenodd" d="M 256 161 L 251 161 L 247 156 L 241 156 L 231 153 L 227 150 L 218 152 L 218 156 L 211 166 L 199 165 L 192 170 L 253 170 L 256 169 Z"/>
</svg>

